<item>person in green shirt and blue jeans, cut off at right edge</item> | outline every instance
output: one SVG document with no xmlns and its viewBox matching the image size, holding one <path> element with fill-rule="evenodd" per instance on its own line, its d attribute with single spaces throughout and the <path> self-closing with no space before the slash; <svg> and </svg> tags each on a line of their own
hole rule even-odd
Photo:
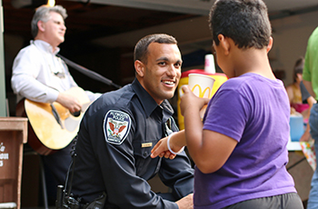
<svg viewBox="0 0 318 209">
<path fill-rule="evenodd" d="M 308 39 L 303 67 L 303 85 L 315 100 L 318 99 L 318 27 Z M 314 150 L 318 154 L 318 104 L 313 104 L 309 117 L 310 134 L 314 140 Z M 318 208 L 318 169 L 313 172 L 311 191 L 307 209 Z"/>
</svg>

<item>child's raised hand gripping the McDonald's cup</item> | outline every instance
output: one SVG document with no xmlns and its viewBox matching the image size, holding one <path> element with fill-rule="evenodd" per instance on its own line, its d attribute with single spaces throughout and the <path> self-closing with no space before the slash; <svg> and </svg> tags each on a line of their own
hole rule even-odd
<svg viewBox="0 0 318 209">
<path fill-rule="evenodd" d="M 181 114 L 184 115 L 185 111 L 200 112 L 205 104 L 208 104 L 209 98 L 200 98 L 190 90 L 188 85 L 183 86 L 184 95 L 181 97 L 180 109 Z"/>
</svg>

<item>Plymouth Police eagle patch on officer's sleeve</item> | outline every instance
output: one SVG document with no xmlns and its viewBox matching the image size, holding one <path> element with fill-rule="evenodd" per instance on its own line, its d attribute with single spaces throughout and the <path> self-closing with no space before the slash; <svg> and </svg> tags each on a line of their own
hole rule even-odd
<svg viewBox="0 0 318 209">
<path fill-rule="evenodd" d="M 131 119 L 122 111 L 110 110 L 104 116 L 104 137 L 107 143 L 122 144 L 129 134 Z"/>
</svg>

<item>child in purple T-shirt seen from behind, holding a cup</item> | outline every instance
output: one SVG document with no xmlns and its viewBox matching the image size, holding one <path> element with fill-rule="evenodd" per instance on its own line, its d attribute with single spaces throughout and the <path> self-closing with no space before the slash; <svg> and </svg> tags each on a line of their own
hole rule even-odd
<svg viewBox="0 0 318 209">
<path fill-rule="evenodd" d="M 207 101 L 184 86 L 184 131 L 162 139 L 152 156 L 174 158 L 187 145 L 195 163 L 194 208 L 303 208 L 285 168 L 290 105 L 267 57 L 273 39 L 266 5 L 217 0 L 210 27 L 217 63 L 229 80 L 203 122 L 199 111 Z"/>
</svg>

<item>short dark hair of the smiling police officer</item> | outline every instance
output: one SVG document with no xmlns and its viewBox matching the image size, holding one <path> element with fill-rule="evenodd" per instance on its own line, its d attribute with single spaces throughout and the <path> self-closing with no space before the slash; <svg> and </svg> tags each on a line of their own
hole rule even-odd
<svg viewBox="0 0 318 209">
<path fill-rule="evenodd" d="M 146 35 L 142 39 L 140 39 L 134 47 L 134 61 L 139 60 L 143 62 L 144 64 L 146 64 L 148 45 L 150 45 L 151 43 L 177 45 L 177 41 L 172 35 L 165 35 L 165 34 Z"/>
</svg>

